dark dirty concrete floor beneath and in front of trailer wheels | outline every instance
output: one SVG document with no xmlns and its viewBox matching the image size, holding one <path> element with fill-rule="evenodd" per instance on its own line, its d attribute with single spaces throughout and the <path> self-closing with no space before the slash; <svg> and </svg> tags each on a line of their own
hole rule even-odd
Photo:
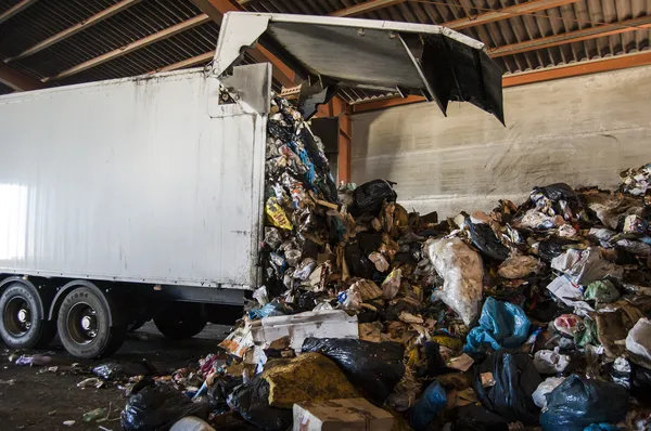
<svg viewBox="0 0 651 431">
<path fill-rule="evenodd" d="M 138 332 L 130 334 L 111 360 L 128 364 L 146 358 L 158 370 L 175 370 L 189 364 L 195 365 L 200 357 L 216 352 L 218 340 L 225 338 L 226 330 L 226 326 L 208 325 L 193 339 L 171 341 L 148 324 Z M 79 389 L 79 381 L 94 376 L 69 374 L 73 363 L 91 367 L 106 360 L 76 360 L 56 342 L 49 350 L 30 352 L 15 352 L 0 345 L 0 430 L 101 430 L 100 426 L 113 431 L 122 430 L 119 412 L 127 401 L 123 392 L 112 383 L 101 389 Z M 14 365 L 9 362 L 12 353 L 51 354 L 52 363 L 48 366 L 59 366 L 59 370 L 56 374 L 39 373 L 43 367 Z M 84 423 L 82 415 L 98 407 L 112 408 L 108 420 Z M 75 420 L 76 423 L 66 427 L 63 425 L 66 420 Z"/>
</svg>

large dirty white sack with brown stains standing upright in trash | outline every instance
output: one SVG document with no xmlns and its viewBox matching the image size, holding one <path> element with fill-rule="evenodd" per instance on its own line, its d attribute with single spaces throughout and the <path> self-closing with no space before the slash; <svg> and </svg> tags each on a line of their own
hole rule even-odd
<svg viewBox="0 0 651 431">
<path fill-rule="evenodd" d="M 427 257 L 444 279 L 443 289 L 433 296 L 452 309 L 465 325 L 480 315 L 484 266 L 482 257 L 460 238 L 430 239 Z"/>
</svg>

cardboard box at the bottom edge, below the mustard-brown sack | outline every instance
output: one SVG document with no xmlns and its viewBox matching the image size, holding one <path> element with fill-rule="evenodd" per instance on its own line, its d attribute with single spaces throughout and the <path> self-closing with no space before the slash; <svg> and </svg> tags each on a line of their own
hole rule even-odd
<svg viewBox="0 0 651 431">
<path fill-rule="evenodd" d="M 394 417 L 365 399 L 294 404 L 294 431 L 391 431 Z"/>
</svg>

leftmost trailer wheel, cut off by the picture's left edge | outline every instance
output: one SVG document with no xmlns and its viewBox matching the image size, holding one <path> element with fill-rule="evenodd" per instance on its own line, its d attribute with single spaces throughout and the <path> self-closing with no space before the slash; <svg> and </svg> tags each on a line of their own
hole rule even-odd
<svg viewBox="0 0 651 431">
<path fill-rule="evenodd" d="M 56 325 L 43 315 L 42 299 L 28 284 L 12 283 L 0 296 L 0 337 L 14 349 L 46 347 L 56 335 Z"/>
</svg>

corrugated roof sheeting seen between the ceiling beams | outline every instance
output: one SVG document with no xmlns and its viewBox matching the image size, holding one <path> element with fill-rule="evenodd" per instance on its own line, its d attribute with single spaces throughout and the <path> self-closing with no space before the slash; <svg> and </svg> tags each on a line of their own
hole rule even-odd
<svg viewBox="0 0 651 431">
<path fill-rule="evenodd" d="M 0 13 L 20 0 L 0 0 Z M 40 0 L 0 24 L 0 60 L 16 55 L 119 0 Z M 255 12 L 331 14 L 367 0 L 240 0 Z M 408 0 L 357 17 L 444 24 L 474 17 L 525 0 Z M 129 9 L 78 34 L 9 65 L 26 75 L 44 78 L 119 49 L 194 16 L 201 11 L 191 0 L 141 0 Z M 476 25 L 461 32 L 486 43 L 488 51 L 512 43 L 651 16 L 651 0 L 579 0 L 558 8 Z M 86 82 L 148 73 L 215 48 L 218 26 L 203 24 L 135 52 L 99 64 L 52 84 Z M 651 29 L 636 29 L 582 42 L 536 49 L 496 57 L 506 74 L 649 50 Z M 247 58 L 252 62 L 251 58 Z M 0 88 L 7 91 L 7 88 Z M 385 97 L 386 93 L 342 90 L 349 103 Z"/>
</svg>

